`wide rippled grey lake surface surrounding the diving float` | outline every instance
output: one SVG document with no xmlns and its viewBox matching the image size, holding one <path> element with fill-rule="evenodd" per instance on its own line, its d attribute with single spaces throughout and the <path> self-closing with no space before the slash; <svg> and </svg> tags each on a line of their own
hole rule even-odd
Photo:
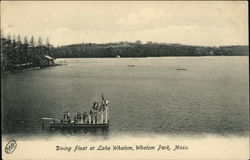
<svg viewBox="0 0 250 160">
<path fill-rule="evenodd" d="M 65 59 L 57 59 L 59 62 Z M 4 135 L 42 136 L 42 117 L 110 100 L 112 135 L 248 135 L 248 57 L 70 58 L 3 73 Z"/>
</svg>

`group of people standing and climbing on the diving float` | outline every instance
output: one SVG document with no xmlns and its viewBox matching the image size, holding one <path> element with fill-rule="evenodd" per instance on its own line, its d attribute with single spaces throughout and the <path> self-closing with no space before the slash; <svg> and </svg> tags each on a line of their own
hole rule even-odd
<svg viewBox="0 0 250 160">
<path fill-rule="evenodd" d="M 98 113 L 103 114 L 109 103 L 107 100 L 104 99 L 103 94 L 101 98 L 102 98 L 101 103 L 94 102 L 89 112 L 84 112 L 84 113 L 76 112 L 76 114 L 73 117 L 74 118 L 73 121 L 71 121 L 69 112 L 68 111 L 64 112 L 63 119 L 61 119 L 61 124 L 97 123 L 97 114 Z M 103 115 L 101 116 L 103 117 Z M 103 121 L 103 118 L 101 121 Z"/>
</svg>

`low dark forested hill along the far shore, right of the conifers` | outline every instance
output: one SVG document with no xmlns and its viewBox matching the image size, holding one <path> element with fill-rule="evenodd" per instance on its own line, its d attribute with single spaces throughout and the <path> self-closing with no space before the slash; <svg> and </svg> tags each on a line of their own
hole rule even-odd
<svg viewBox="0 0 250 160">
<path fill-rule="evenodd" d="M 248 46 L 203 47 L 148 42 L 119 42 L 107 44 L 74 44 L 56 47 L 55 58 L 74 57 L 158 57 L 158 56 L 247 56 Z"/>
</svg>

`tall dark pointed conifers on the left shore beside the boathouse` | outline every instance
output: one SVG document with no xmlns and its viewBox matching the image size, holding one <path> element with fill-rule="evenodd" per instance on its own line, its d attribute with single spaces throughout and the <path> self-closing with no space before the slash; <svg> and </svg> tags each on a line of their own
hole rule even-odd
<svg viewBox="0 0 250 160">
<path fill-rule="evenodd" d="M 44 55 L 51 55 L 53 46 L 49 39 L 43 44 L 39 37 L 37 41 L 33 36 L 21 38 L 8 35 L 1 35 L 1 70 L 15 70 L 25 67 L 36 67 L 40 65 L 40 58 Z"/>
</svg>

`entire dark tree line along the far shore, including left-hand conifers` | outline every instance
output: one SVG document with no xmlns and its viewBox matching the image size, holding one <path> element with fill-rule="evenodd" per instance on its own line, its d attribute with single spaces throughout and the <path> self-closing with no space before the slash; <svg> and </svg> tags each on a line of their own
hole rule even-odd
<svg viewBox="0 0 250 160">
<path fill-rule="evenodd" d="M 54 58 L 159 57 L 159 56 L 247 56 L 248 46 L 204 47 L 141 41 L 81 43 L 53 47 L 49 39 L 1 35 L 1 70 L 35 67 L 44 55 Z"/>
</svg>

